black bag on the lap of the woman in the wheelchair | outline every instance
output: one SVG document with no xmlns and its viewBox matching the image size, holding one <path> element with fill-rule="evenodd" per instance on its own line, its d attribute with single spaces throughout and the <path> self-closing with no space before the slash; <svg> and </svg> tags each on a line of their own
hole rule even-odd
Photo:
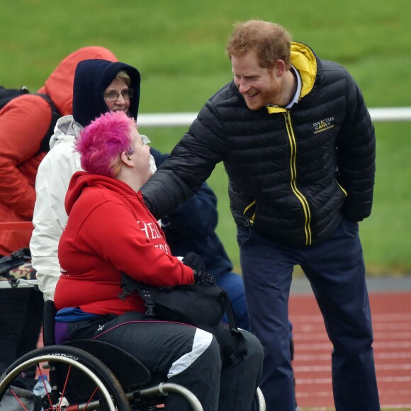
<svg viewBox="0 0 411 411">
<path fill-rule="evenodd" d="M 147 317 L 194 325 L 212 332 L 222 347 L 234 349 L 236 354 L 246 352 L 244 337 L 235 324 L 230 298 L 215 283 L 212 274 L 205 273 L 205 280 L 195 284 L 154 287 L 139 283 L 123 273 L 120 286 L 123 292 L 118 296 L 122 300 L 134 292 L 140 295 L 145 301 Z M 229 322 L 227 334 L 215 330 L 224 313 L 227 313 Z"/>
</svg>

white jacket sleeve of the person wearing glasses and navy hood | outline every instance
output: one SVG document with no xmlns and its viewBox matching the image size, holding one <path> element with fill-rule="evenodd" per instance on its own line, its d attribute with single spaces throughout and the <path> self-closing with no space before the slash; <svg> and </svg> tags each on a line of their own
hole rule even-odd
<svg viewBox="0 0 411 411">
<path fill-rule="evenodd" d="M 75 137 L 58 142 L 47 153 L 35 180 L 34 230 L 30 240 L 32 264 L 45 300 L 53 300 L 60 264 L 57 249 L 67 223 L 64 199 L 72 175 L 81 170 L 74 152 Z"/>
</svg>

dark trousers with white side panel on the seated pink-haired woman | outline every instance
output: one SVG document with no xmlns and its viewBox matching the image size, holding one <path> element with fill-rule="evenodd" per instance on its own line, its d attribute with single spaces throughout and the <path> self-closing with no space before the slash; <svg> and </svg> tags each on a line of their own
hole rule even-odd
<svg viewBox="0 0 411 411">
<path fill-rule="evenodd" d="M 242 332 L 247 344 L 244 356 L 226 354 L 209 332 L 177 322 L 147 321 L 141 313 L 67 323 L 67 332 L 70 339 L 98 339 L 125 349 L 152 374 L 191 390 L 204 411 L 252 407 L 264 354 L 249 332 Z M 168 395 L 165 404 L 169 411 L 191 410 L 176 394 Z"/>
</svg>

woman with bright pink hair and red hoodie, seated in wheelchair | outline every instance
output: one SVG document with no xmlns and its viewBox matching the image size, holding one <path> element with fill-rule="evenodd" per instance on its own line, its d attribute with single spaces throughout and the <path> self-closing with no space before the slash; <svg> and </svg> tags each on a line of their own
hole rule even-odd
<svg viewBox="0 0 411 411">
<path fill-rule="evenodd" d="M 122 111 L 96 118 L 76 143 L 81 167 L 72 176 L 65 206 L 69 219 L 59 243 L 62 275 L 55 291 L 56 342 L 98 339 L 130 352 L 150 372 L 185 385 L 206 411 L 252 407 L 263 350 L 243 332 L 247 354 L 220 347 L 214 335 L 191 325 L 149 320 L 137 294 L 121 300 L 125 272 L 150 286 L 191 284 L 196 264 L 171 255 L 140 192 L 150 179 L 150 147 Z M 198 257 L 199 259 L 200 257 Z M 225 325 L 218 325 L 217 331 Z M 179 395 L 167 410 L 189 410 Z"/>
</svg>

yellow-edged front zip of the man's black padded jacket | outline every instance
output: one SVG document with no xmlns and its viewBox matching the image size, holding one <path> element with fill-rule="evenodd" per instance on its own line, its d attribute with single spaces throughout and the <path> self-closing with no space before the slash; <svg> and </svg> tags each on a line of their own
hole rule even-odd
<svg viewBox="0 0 411 411">
<path fill-rule="evenodd" d="M 291 158 L 290 158 L 290 170 L 291 170 L 291 189 L 293 190 L 293 193 L 295 196 L 298 198 L 300 201 L 301 205 L 303 205 L 303 211 L 305 215 L 305 222 L 304 222 L 304 231 L 305 231 L 305 245 L 311 245 L 313 242 L 312 236 L 311 236 L 311 228 L 310 228 L 310 222 L 311 222 L 311 213 L 310 213 L 310 206 L 308 205 L 307 198 L 303 196 L 302 193 L 297 188 L 297 167 L 296 167 L 296 158 L 297 158 L 297 144 L 295 142 L 295 135 L 293 133 L 293 127 L 291 125 L 291 116 L 290 112 L 286 111 L 286 113 L 283 113 L 284 119 L 286 120 L 286 129 L 287 129 L 287 134 L 288 134 L 288 140 L 290 142 L 290 148 L 291 148 Z"/>
</svg>

